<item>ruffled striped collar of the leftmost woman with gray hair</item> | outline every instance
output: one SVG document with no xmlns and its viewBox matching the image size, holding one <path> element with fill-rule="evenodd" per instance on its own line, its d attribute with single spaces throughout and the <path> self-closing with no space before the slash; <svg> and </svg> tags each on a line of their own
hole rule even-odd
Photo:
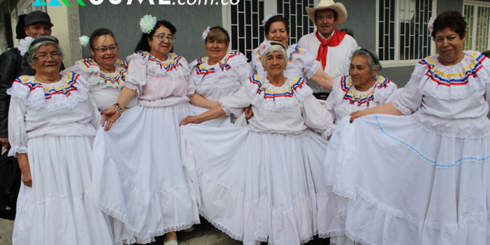
<svg viewBox="0 0 490 245">
<path fill-rule="evenodd" d="M 38 82 L 34 76 L 21 76 L 7 94 L 23 99 L 34 110 L 41 107 L 48 111 L 73 109 L 88 98 L 89 85 L 80 74 L 65 72 L 61 75 L 60 81 L 49 84 Z"/>
</svg>

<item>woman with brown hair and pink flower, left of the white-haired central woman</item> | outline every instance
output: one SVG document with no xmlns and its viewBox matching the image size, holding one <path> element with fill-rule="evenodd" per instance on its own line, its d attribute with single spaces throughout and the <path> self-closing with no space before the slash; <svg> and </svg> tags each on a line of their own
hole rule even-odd
<svg viewBox="0 0 490 245">
<path fill-rule="evenodd" d="M 207 28 L 202 35 L 208 56 L 191 62 L 191 79 L 196 86 L 196 94 L 191 97 L 193 110 L 201 114 L 218 104 L 218 100 L 231 95 L 248 81 L 250 65 L 245 55 L 238 51 L 228 52 L 230 36 L 221 26 Z M 225 116 L 204 122 L 204 125 L 233 126 L 232 116 Z"/>
</svg>

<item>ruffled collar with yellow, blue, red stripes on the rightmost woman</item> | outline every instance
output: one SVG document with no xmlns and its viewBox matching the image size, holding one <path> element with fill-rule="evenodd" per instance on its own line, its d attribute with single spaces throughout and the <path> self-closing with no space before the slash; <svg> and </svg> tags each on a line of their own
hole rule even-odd
<svg viewBox="0 0 490 245">
<path fill-rule="evenodd" d="M 440 99 L 461 99 L 490 83 L 489 58 L 478 51 L 465 51 L 463 60 L 452 66 L 438 61 L 438 54 L 419 61 L 416 71 L 422 76 L 418 89 L 423 95 Z"/>
</svg>

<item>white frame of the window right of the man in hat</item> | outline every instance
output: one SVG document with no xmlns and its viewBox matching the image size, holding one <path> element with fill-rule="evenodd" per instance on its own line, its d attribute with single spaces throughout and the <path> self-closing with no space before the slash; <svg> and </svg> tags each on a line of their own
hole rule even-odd
<svg viewBox="0 0 490 245">
<path fill-rule="evenodd" d="M 433 0 L 432 2 L 432 17 L 436 18 L 436 9 L 437 9 L 437 0 Z M 379 56 L 378 49 L 379 49 L 379 0 L 376 0 L 376 53 Z M 394 60 L 382 60 L 380 61 L 381 65 L 383 67 L 403 67 L 403 66 L 414 66 L 417 64 L 419 59 L 414 59 L 414 60 L 399 60 L 399 55 L 400 55 L 400 0 L 395 0 L 395 38 L 394 38 L 394 43 L 395 43 L 395 59 Z M 432 41 L 432 38 L 430 38 L 432 44 L 431 44 L 431 49 L 430 53 L 434 53 L 436 51 L 434 41 Z"/>
</svg>

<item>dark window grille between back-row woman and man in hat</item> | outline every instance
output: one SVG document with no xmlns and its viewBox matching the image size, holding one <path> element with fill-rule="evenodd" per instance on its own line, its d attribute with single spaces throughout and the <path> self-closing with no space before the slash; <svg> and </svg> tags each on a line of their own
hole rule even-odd
<svg viewBox="0 0 490 245">
<path fill-rule="evenodd" d="M 313 0 L 278 0 L 277 14 L 289 20 L 289 44 L 315 30 L 315 24 L 306 13 L 306 7 L 315 7 Z"/>
</svg>

